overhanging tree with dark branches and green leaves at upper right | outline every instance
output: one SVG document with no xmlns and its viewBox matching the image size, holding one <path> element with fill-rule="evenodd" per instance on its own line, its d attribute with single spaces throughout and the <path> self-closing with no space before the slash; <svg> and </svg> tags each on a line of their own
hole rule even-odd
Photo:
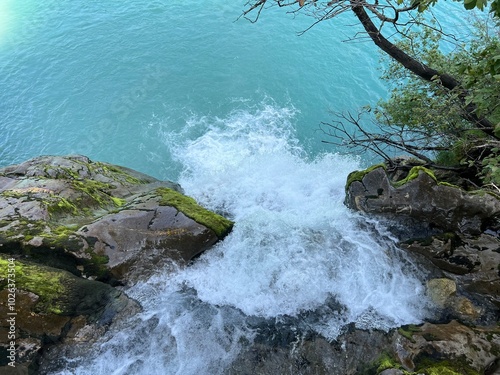
<svg viewBox="0 0 500 375">
<path fill-rule="evenodd" d="M 332 143 L 365 148 L 389 163 L 394 150 L 401 150 L 430 166 L 472 170 L 484 183 L 500 186 L 498 24 L 478 27 L 468 43 L 457 44 L 444 54 L 440 43 L 445 34 L 432 17 L 421 15 L 429 13 L 436 2 L 254 0 L 247 2 L 244 16 L 253 14 L 255 22 L 266 6 L 291 7 L 291 12 L 315 17 L 314 25 L 351 12 L 390 58 L 384 77 L 394 85 L 390 98 L 376 108 L 366 108 L 356 116 L 338 114 L 336 121 L 324 123 L 323 129 L 336 137 Z M 463 4 L 466 9 L 488 6 L 486 0 L 464 0 Z M 499 0 L 490 2 L 489 8 L 498 21 Z M 368 113 L 375 114 L 377 132 L 363 126 Z"/>
</svg>

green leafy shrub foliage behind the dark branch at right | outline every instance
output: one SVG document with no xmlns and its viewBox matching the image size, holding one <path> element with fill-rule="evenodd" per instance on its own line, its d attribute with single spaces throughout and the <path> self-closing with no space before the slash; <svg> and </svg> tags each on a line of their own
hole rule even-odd
<svg viewBox="0 0 500 375">
<path fill-rule="evenodd" d="M 420 20 L 423 24 L 423 20 Z M 431 23 L 432 26 L 432 23 Z M 484 184 L 500 184 L 500 32 L 499 23 L 475 22 L 474 34 L 464 43 L 443 51 L 443 34 L 434 27 L 404 32 L 398 46 L 438 72 L 458 79 L 465 94 L 444 89 L 436 76 L 431 82 L 414 76 L 390 61 L 383 78 L 390 84 L 389 99 L 378 103 L 379 123 L 400 128 L 431 146 L 436 164 L 466 167 Z M 447 45 L 450 49 L 450 44 Z M 440 73 L 440 74 L 442 74 Z M 498 124 L 494 137 L 463 118 L 464 106 L 474 105 L 479 117 Z M 417 134 L 418 137 L 415 137 Z"/>
</svg>

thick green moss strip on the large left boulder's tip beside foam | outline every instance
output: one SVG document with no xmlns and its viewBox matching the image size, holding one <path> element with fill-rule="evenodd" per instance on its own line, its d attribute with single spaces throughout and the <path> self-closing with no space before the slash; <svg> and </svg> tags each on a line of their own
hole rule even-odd
<svg viewBox="0 0 500 375">
<path fill-rule="evenodd" d="M 212 229 L 219 238 L 227 235 L 233 227 L 232 221 L 201 207 L 193 198 L 169 188 L 158 188 L 156 192 L 161 196 L 161 206 L 175 207 L 197 223 Z"/>
</svg>

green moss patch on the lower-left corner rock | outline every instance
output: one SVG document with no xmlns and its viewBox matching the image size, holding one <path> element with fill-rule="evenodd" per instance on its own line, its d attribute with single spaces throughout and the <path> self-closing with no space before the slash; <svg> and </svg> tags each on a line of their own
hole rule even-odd
<svg viewBox="0 0 500 375">
<path fill-rule="evenodd" d="M 27 264 L 16 260 L 15 280 L 16 288 L 32 292 L 40 297 L 36 307 L 43 313 L 63 314 L 64 309 L 58 300 L 65 292 L 63 272 L 51 271 L 48 268 Z M 0 257 L 0 276 L 7 278 L 8 261 Z M 6 280 L 5 280 L 6 281 Z M 6 287 L 6 282 L 3 283 Z"/>
</svg>

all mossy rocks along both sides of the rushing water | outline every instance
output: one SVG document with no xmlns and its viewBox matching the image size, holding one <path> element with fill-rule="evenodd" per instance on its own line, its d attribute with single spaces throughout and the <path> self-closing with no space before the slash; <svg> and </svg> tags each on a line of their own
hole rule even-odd
<svg viewBox="0 0 500 375">
<path fill-rule="evenodd" d="M 346 185 L 346 205 L 387 220 L 429 270 L 432 321 L 390 332 L 352 327 L 334 342 L 295 342 L 282 327 L 273 336 L 280 342 L 256 340 L 226 373 L 500 373 L 500 198 L 448 181 L 421 166 L 380 165 Z M 0 325 L 0 372 L 36 374 L 52 348 L 92 342 L 140 311 L 121 289 L 187 264 L 232 226 L 175 183 L 85 156 L 0 169 L 0 314 L 15 318 L 14 332 L 7 319 Z"/>
</svg>

